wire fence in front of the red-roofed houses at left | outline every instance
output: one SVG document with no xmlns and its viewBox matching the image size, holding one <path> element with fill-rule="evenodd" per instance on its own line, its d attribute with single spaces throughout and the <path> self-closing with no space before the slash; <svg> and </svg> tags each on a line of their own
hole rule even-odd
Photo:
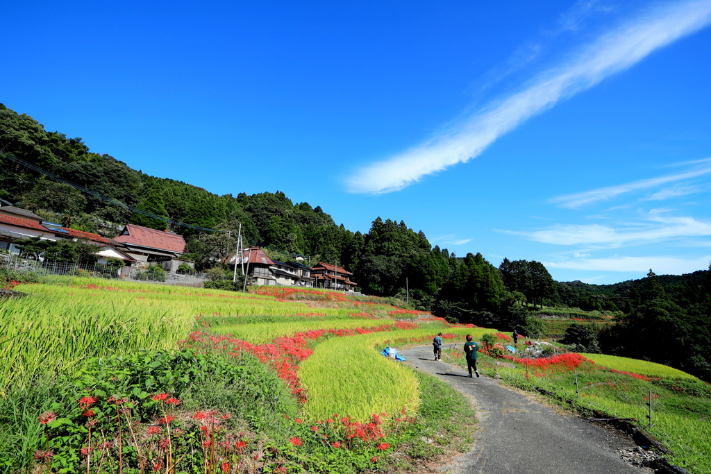
<svg viewBox="0 0 711 474">
<path fill-rule="evenodd" d="M 37 257 L 22 257 L 19 254 L 0 252 L 0 269 L 5 271 L 31 272 L 38 276 L 66 275 L 89 276 L 94 278 L 122 281 L 143 281 L 146 283 L 200 285 L 209 280 L 207 274 L 198 271 L 178 271 L 169 273 L 159 266 L 145 269 L 140 266 L 121 266 L 109 263 L 58 262 Z"/>
</svg>

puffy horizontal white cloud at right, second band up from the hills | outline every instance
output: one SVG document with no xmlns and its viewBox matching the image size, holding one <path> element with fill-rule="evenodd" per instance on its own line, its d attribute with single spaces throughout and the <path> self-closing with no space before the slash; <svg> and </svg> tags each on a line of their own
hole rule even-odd
<svg viewBox="0 0 711 474">
<path fill-rule="evenodd" d="M 611 247 L 632 242 L 711 236 L 711 222 L 702 222 L 693 217 L 668 217 L 661 210 L 655 210 L 648 214 L 647 221 L 624 229 L 599 224 L 558 224 L 535 232 L 516 233 L 546 244 Z"/>
</svg>

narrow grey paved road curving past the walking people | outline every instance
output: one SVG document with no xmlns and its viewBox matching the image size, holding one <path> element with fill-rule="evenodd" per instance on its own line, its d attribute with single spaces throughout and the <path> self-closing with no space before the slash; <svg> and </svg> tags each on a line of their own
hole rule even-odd
<svg viewBox="0 0 711 474">
<path fill-rule="evenodd" d="M 444 471 L 461 474 L 653 473 L 621 460 L 616 449 L 634 447 L 617 433 L 573 416 L 562 416 L 496 379 L 466 377 L 466 370 L 434 362 L 432 346 L 403 349 L 407 364 L 437 375 L 468 395 L 479 416 L 472 451 Z"/>
</svg>

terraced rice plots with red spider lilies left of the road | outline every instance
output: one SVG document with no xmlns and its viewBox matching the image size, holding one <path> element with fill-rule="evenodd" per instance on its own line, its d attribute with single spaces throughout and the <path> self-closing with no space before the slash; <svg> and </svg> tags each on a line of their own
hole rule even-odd
<svg viewBox="0 0 711 474">
<path fill-rule="evenodd" d="M 0 301 L 0 472 L 393 472 L 471 444 L 459 392 L 378 354 L 471 329 L 393 300 L 7 284 L 24 296 Z M 362 373 L 339 374 L 334 351 Z M 333 384 L 351 398 L 324 395 Z"/>
</svg>

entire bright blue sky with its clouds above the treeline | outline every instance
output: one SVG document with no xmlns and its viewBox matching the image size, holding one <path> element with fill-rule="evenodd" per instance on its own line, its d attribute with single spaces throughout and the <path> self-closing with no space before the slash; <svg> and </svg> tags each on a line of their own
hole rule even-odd
<svg viewBox="0 0 711 474">
<path fill-rule="evenodd" d="M 0 102 L 145 173 L 614 283 L 711 260 L 711 0 L 11 2 Z M 255 179 L 254 170 L 262 171 Z"/>
</svg>

